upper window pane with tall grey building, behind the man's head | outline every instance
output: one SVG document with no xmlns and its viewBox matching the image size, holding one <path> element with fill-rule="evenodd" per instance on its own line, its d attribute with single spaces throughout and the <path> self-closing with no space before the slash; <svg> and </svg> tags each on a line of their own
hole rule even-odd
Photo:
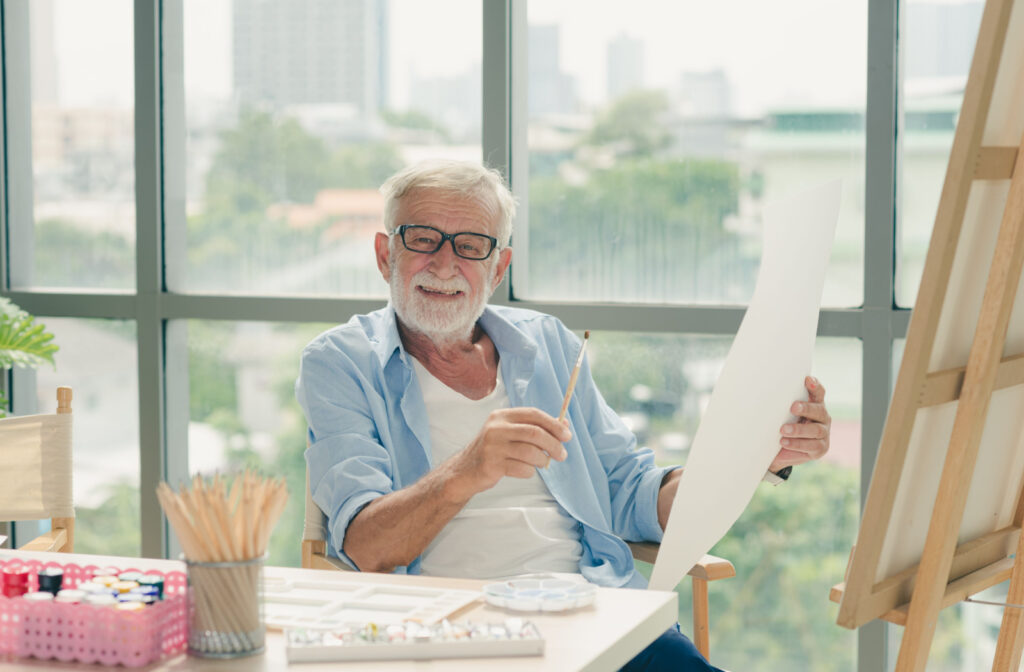
<svg viewBox="0 0 1024 672">
<path fill-rule="evenodd" d="M 443 39 L 423 29 L 440 16 Z M 172 289 L 385 296 L 377 187 L 418 159 L 480 159 L 480 26 L 473 0 L 186 0 Z"/>
</svg>

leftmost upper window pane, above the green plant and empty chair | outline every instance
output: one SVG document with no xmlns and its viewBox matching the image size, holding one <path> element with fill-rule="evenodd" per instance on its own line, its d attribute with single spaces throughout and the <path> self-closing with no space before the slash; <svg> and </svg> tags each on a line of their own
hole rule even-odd
<svg viewBox="0 0 1024 672">
<path fill-rule="evenodd" d="M 32 175 L 14 195 L 17 287 L 130 289 L 135 284 L 132 3 L 39 0 L 28 7 L 30 57 L 7 61 L 8 167 Z M 98 17 L 102 17 L 99 20 Z M 9 49 L 20 49 L 25 36 Z M 31 66 L 30 66 L 31 65 Z M 30 66 L 30 67 L 26 67 Z M 28 108 L 27 108 L 28 109 Z M 26 252 L 29 252 L 28 254 Z"/>
</svg>

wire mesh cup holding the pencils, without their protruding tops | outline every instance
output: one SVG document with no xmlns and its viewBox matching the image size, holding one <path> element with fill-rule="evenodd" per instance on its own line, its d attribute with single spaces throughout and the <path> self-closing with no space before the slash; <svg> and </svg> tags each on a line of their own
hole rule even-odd
<svg viewBox="0 0 1024 672">
<path fill-rule="evenodd" d="M 265 556 L 198 562 L 188 570 L 188 653 L 241 658 L 263 653 L 266 627 L 260 585 Z"/>
</svg>

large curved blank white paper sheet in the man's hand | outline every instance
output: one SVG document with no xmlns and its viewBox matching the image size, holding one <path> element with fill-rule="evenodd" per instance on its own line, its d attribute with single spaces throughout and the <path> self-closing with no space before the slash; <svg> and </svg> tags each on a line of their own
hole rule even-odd
<svg viewBox="0 0 1024 672">
<path fill-rule="evenodd" d="M 807 398 L 840 196 L 833 180 L 765 208 L 754 296 L 693 437 L 652 590 L 673 590 L 725 536 L 778 454 L 791 405 Z"/>
</svg>

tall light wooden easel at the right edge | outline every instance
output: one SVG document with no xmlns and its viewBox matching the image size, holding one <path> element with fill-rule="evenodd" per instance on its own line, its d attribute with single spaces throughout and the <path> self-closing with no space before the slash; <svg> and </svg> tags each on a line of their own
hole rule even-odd
<svg viewBox="0 0 1024 672">
<path fill-rule="evenodd" d="M 1017 0 L 1017 4 L 1024 4 L 1024 0 Z M 1024 490 L 1016 491 L 1015 508 L 1004 512 L 1012 513 L 1011 524 L 958 542 L 992 393 L 1024 384 L 1024 352 L 1002 358 L 1024 262 L 1024 140 L 1017 137 L 1016 144 L 1011 146 L 983 145 L 996 83 L 999 82 L 1000 89 L 1007 89 L 1008 85 L 1006 77 L 1001 80 L 998 77 L 1000 66 L 1007 72 L 1024 75 L 1024 69 L 1014 61 L 1015 57 L 1024 58 L 1021 53 L 1024 18 L 1015 16 L 1011 27 L 1014 5 L 1015 0 L 988 0 L 985 6 L 860 533 L 847 581 L 833 589 L 833 599 L 841 602 L 840 625 L 856 628 L 882 618 L 906 627 L 896 664 L 898 672 L 925 669 L 943 607 L 1007 579 L 1010 579 L 1008 602 L 1024 603 L 1024 535 L 1021 534 Z M 1024 12 L 1024 6 L 1017 7 L 1017 12 Z M 1006 49 L 1011 54 L 1009 62 L 1000 62 L 1005 45 L 1010 45 Z M 1024 83 L 1020 81 L 1010 81 L 1009 85 L 1012 93 L 1024 91 Z M 1002 90 L 1000 95 L 1005 101 L 1007 91 Z M 1012 104 L 1018 118 L 1024 115 L 1024 97 L 1018 96 Z M 968 199 L 976 180 L 1010 180 L 995 252 L 987 268 L 966 366 L 929 371 L 953 260 L 957 246 L 964 244 L 962 229 Z M 977 272 L 985 270 L 980 265 Z M 892 524 L 897 489 L 901 477 L 911 481 L 914 477 L 913 473 L 904 473 L 904 467 L 918 413 L 950 402 L 956 403 L 955 419 L 921 561 L 892 576 L 880 577 L 880 556 Z M 1024 415 L 1024 408 L 1019 412 Z M 999 450 L 1016 449 L 1017 444 L 1012 443 Z M 937 452 L 936 459 L 941 455 L 941 451 Z M 1015 562 L 1014 554 L 1022 561 Z M 1007 607 L 993 670 L 1018 669 L 1024 647 L 1022 630 L 1022 610 Z"/>
</svg>

